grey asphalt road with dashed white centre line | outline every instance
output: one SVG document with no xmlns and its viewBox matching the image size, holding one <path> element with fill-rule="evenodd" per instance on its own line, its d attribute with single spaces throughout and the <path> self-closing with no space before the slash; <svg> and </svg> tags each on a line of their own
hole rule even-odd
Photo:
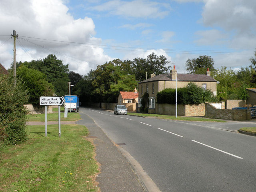
<svg viewBox="0 0 256 192">
<path fill-rule="evenodd" d="M 256 137 L 244 122 L 186 122 L 81 108 L 130 153 L 162 192 L 255 191 Z"/>
</svg>

